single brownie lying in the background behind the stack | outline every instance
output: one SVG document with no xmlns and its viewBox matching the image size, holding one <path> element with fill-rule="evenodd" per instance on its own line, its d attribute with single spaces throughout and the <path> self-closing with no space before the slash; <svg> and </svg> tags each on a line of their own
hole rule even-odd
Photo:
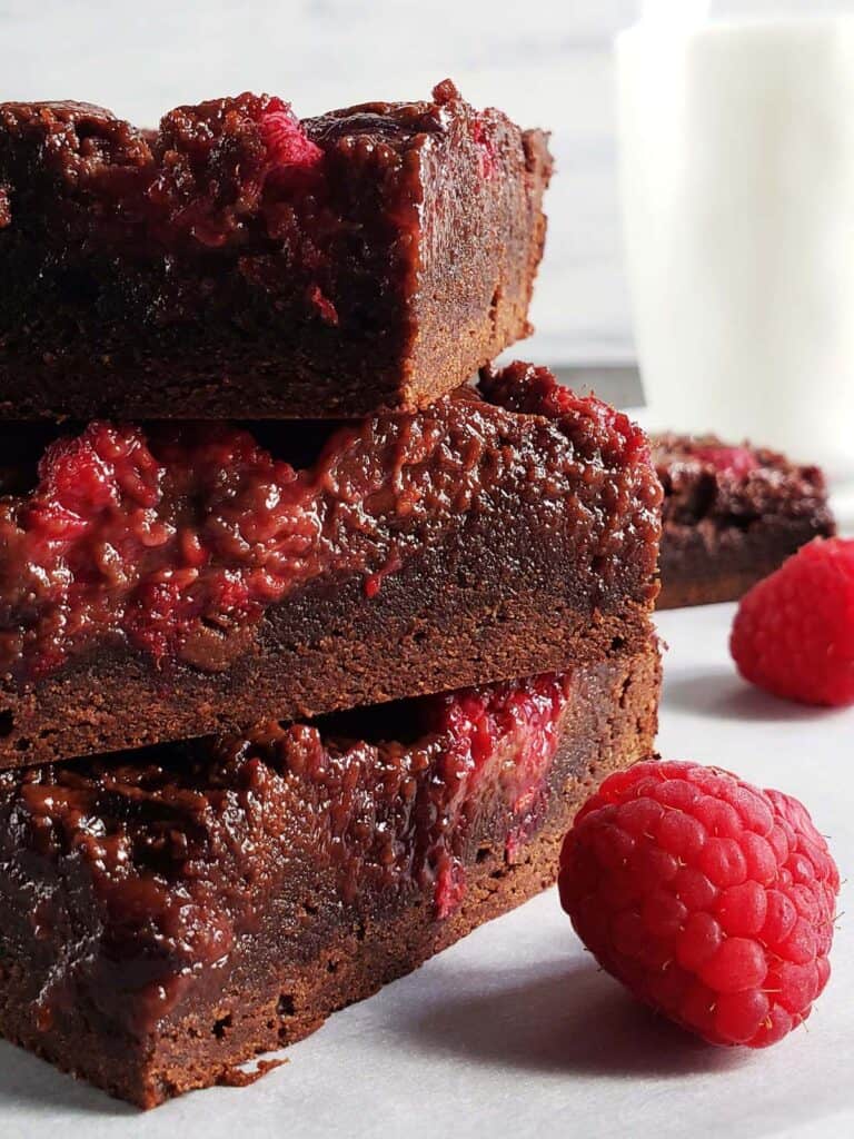
<svg viewBox="0 0 854 1139">
<path fill-rule="evenodd" d="M 712 435 L 660 435 L 652 450 L 664 486 L 658 608 L 737 600 L 835 532 L 818 467 Z"/>
</svg>

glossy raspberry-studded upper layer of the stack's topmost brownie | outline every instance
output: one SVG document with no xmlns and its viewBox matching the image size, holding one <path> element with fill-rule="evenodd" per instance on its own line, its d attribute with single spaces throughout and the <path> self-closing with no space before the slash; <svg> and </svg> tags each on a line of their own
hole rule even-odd
<svg viewBox="0 0 854 1139">
<path fill-rule="evenodd" d="M 451 138 L 483 180 L 496 177 L 510 126 L 498 110 L 475 112 L 450 80 L 428 103 L 371 103 L 302 122 L 281 99 L 246 92 L 176 107 L 156 132 L 85 103 L 0 104 L 0 238 L 19 213 L 58 246 L 284 247 L 307 268 L 362 206 L 376 211 L 375 232 L 362 216 L 351 244 L 416 230 L 421 155 Z"/>
</svg>

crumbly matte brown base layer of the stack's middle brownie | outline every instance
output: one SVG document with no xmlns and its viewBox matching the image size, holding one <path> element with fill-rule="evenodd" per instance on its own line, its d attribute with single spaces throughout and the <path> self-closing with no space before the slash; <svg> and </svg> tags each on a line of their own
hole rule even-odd
<svg viewBox="0 0 854 1139">
<path fill-rule="evenodd" d="M 381 611 L 331 626 L 311 642 L 293 641 L 266 666 L 239 680 L 184 670 L 180 682 L 129 654 L 99 656 L 46 682 L 34 694 L 2 694 L 0 770 L 59 762 L 212 732 L 245 730 L 273 714 L 297 720 L 586 663 L 637 650 L 650 614 L 629 604 L 622 614 L 580 616 L 563 598 L 516 591 L 481 606 L 449 587 L 449 604 L 409 623 Z M 454 604 L 454 600 L 458 604 Z M 340 639 L 339 639 L 340 638 Z M 336 646 L 330 658 L 328 645 Z M 394 652 L 388 652 L 394 646 Z M 276 710 L 276 711 L 273 711 Z"/>
</svg>

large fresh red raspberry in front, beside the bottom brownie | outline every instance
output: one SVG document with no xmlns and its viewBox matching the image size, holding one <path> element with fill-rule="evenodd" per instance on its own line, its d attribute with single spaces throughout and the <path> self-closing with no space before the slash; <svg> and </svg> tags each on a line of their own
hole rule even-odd
<svg viewBox="0 0 854 1139">
<path fill-rule="evenodd" d="M 712 1043 L 774 1043 L 830 975 L 824 839 L 797 800 L 717 768 L 610 776 L 564 841 L 559 885 L 599 964 Z"/>
</svg>

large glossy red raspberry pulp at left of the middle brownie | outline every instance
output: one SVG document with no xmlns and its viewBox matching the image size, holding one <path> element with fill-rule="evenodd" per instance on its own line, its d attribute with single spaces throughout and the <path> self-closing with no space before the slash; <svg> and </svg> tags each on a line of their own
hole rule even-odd
<svg viewBox="0 0 854 1139">
<path fill-rule="evenodd" d="M 42 674 L 110 632 L 162 662 L 199 624 L 252 623 L 315 572 L 311 489 L 245 432 L 154 442 L 93 424 L 49 448 L 39 476 L 0 513 L 5 670 L 26 661 Z"/>
</svg>

